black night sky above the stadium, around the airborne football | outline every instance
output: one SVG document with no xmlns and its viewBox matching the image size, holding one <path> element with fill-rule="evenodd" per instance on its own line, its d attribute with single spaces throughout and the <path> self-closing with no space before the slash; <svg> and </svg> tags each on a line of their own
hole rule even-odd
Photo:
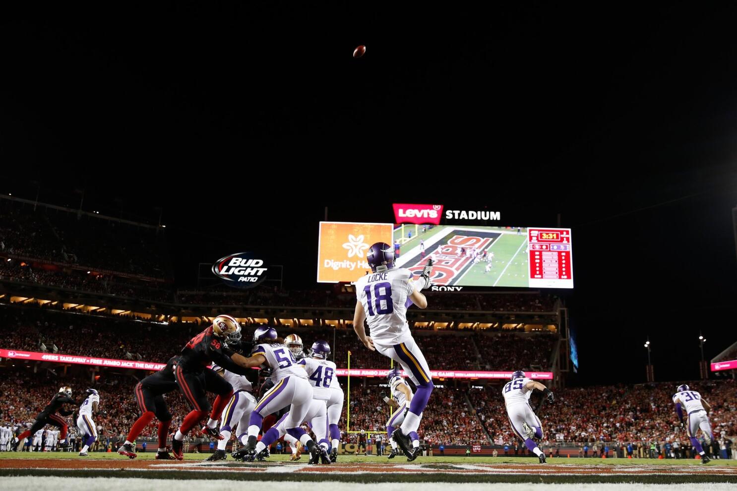
<svg viewBox="0 0 737 491">
<path fill-rule="evenodd" d="M 288 287 L 314 286 L 325 206 L 359 221 L 391 221 L 392 201 L 488 206 L 505 225 L 560 213 L 584 382 L 643 380 L 648 333 L 659 380 L 697 377 L 699 329 L 708 357 L 737 340 L 723 6 L 13 8 L 0 158 L 24 174 L 0 192 L 33 198 L 35 178 L 42 201 L 77 206 L 85 189 L 85 209 L 154 222 L 160 207 L 181 282 L 193 257 L 247 247 L 273 251 Z"/>
</svg>

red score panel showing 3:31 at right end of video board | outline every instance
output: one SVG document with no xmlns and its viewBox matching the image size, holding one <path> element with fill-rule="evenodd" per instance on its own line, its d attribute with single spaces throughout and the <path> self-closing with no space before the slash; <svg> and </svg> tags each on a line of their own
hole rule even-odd
<svg viewBox="0 0 737 491">
<path fill-rule="evenodd" d="M 528 229 L 530 288 L 573 288 L 570 229 Z"/>
</svg>

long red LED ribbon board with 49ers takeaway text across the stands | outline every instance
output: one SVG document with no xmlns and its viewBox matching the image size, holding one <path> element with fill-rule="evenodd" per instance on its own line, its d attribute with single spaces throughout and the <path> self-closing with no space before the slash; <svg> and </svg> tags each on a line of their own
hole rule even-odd
<svg viewBox="0 0 737 491">
<path fill-rule="evenodd" d="M 43 353 L 35 351 L 19 351 L 18 349 L 0 348 L 0 358 L 11 358 L 14 360 L 48 361 L 49 363 L 69 363 L 88 366 L 113 366 L 117 368 L 137 370 L 161 370 L 166 363 L 155 361 L 114 360 L 111 358 L 97 358 L 94 356 L 60 355 L 58 353 Z M 388 369 L 351 369 L 351 377 L 386 377 Z M 433 378 L 484 378 L 509 380 L 512 372 L 473 372 L 461 370 L 432 370 L 430 376 Z M 337 369 L 335 375 L 346 377 L 348 369 Z M 402 371 L 402 375 L 408 374 Z M 534 380 L 553 380 L 553 372 L 528 372 L 528 378 Z"/>
</svg>

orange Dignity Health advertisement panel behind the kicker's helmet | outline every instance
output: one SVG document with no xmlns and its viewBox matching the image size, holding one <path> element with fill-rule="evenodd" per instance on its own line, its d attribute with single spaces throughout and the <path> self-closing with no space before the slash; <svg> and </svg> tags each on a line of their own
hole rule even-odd
<svg viewBox="0 0 737 491">
<path fill-rule="evenodd" d="M 366 271 L 366 252 L 377 242 L 393 243 L 391 223 L 320 222 L 318 282 L 354 282 Z"/>
</svg>

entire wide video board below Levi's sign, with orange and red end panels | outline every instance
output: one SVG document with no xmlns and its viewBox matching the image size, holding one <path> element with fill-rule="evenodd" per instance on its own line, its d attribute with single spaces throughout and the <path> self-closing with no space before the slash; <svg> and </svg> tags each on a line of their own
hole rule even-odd
<svg viewBox="0 0 737 491">
<path fill-rule="evenodd" d="M 371 240 L 390 244 L 413 273 L 432 260 L 436 286 L 573 288 L 570 229 L 472 225 L 321 223 L 318 281 L 366 274 Z"/>
</svg>

